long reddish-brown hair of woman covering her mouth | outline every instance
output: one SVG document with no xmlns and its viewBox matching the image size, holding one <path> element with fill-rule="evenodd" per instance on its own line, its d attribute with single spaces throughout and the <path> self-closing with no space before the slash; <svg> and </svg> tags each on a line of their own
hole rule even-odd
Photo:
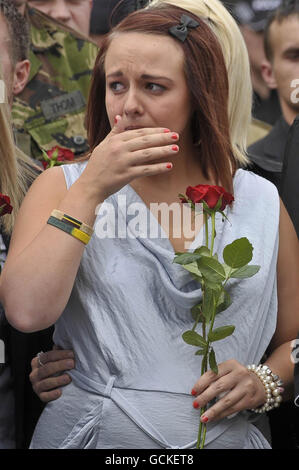
<svg viewBox="0 0 299 470">
<path fill-rule="evenodd" d="M 140 10 L 119 23 L 106 37 L 96 59 L 89 102 L 87 132 L 91 151 L 110 132 L 105 107 L 104 61 L 112 39 L 118 33 L 140 32 L 169 36 L 169 28 L 180 23 L 182 14 L 199 22 L 181 43 L 185 56 L 185 75 L 193 107 L 194 144 L 201 143 L 200 158 L 206 178 L 213 178 L 232 191 L 236 161 L 229 137 L 228 78 L 220 44 L 204 19 L 170 5 Z M 174 39 L 176 40 L 176 39 Z"/>
</svg>

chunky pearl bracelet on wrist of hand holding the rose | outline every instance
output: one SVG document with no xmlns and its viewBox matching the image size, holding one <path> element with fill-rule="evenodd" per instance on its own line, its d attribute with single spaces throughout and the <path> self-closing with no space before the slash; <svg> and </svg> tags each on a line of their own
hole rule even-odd
<svg viewBox="0 0 299 470">
<path fill-rule="evenodd" d="M 273 374 L 270 367 L 266 365 L 259 364 L 256 366 L 255 364 L 252 364 L 247 366 L 247 369 L 254 372 L 262 381 L 267 397 L 264 405 L 259 408 L 254 408 L 251 411 L 254 411 L 254 413 L 265 413 L 273 408 L 278 408 L 282 402 L 281 393 L 284 391 L 284 389 L 281 388 L 283 385 L 282 380 L 280 380 L 278 375 Z"/>
</svg>

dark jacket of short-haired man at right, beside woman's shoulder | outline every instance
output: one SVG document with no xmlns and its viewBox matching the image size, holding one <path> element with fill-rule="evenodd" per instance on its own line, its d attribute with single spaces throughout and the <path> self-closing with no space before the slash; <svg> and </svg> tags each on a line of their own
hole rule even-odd
<svg viewBox="0 0 299 470">
<path fill-rule="evenodd" d="M 284 152 L 290 126 L 281 116 L 269 134 L 248 148 L 252 171 L 271 181 L 281 190 Z"/>
</svg>

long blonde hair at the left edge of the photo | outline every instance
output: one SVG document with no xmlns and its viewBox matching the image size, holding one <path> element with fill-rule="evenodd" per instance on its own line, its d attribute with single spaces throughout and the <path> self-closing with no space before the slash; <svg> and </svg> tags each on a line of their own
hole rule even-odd
<svg viewBox="0 0 299 470">
<path fill-rule="evenodd" d="M 1 63 L 0 83 L 4 84 Z M 12 232 L 28 186 L 37 176 L 37 170 L 38 167 L 32 160 L 14 144 L 10 109 L 6 98 L 0 103 L 0 192 L 9 196 L 13 207 L 11 214 L 1 217 L 1 226 L 8 235 Z"/>
</svg>

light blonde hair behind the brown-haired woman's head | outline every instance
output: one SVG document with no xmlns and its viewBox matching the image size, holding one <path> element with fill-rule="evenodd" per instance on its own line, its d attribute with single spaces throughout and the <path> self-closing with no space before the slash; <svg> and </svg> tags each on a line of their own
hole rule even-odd
<svg viewBox="0 0 299 470">
<path fill-rule="evenodd" d="M 252 84 L 248 52 L 237 23 L 219 0 L 152 0 L 148 8 L 163 3 L 184 8 L 209 20 L 221 45 L 228 73 L 228 118 L 234 157 L 239 165 L 246 165 L 247 135 L 252 119 Z"/>
</svg>

